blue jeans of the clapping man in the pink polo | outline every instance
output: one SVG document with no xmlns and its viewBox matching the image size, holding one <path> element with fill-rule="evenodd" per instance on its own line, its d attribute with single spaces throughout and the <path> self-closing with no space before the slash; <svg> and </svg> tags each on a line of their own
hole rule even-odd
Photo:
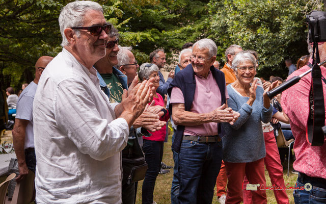
<svg viewBox="0 0 326 204">
<path fill-rule="evenodd" d="M 182 140 L 179 151 L 179 202 L 211 203 L 222 163 L 222 141 Z"/>
</svg>

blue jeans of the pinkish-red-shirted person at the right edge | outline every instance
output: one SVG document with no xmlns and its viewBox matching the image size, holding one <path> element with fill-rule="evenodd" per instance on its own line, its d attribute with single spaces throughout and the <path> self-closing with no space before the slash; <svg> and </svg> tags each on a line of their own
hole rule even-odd
<svg viewBox="0 0 326 204">
<path fill-rule="evenodd" d="M 310 191 L 298 190 L 293 191 L 294 203 L 324 204 L 326 203 L 326 180 L 308 177 L 299 173 L 296 181 L 296 188 L 304 188 L 305 184 L 310 183 L 312 189 Z"/>
</svg>

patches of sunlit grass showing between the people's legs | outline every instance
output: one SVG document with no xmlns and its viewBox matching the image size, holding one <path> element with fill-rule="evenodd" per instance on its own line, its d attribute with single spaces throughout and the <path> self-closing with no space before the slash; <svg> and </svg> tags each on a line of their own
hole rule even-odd
<svg viewBox="0 0 326 204">
<path fill-rule="evenodd" d="M 172 155 L 172 150 L 171 150 L 171 136 L 169 135 L 169 141 L 164 144 L 164 155 L 162 161 L 164 161 L 167 165 L 169 166 L 174 166 L 173 162 L 173 155 Z M 290 171 L 292 170 L 292 163 L 293 161 L 290 161 Z M 284 166 L 284 182 L 285 185 L 289 183 L 288 186 L 294 187 L 296 179 L 297 179 L 297 174 L 289 173 L 289 177 L 287 176 L 287 162 L 283 163 Z M 166 204 L 166 203 L 171 203 L 171 183 L 172 183 L 172 177 L 173 177 L 173 169 L 171 169 L 170 173 L 167 173 L 165 175 L 158 175 L 155 183 L 155 189 L 154 189 L 154 201 L 157 202 L 158 204 Z M 268 172 L 265 171 L 265 178 L 267 182 L 267 186 L 271 186 L 270 179 L 268 176 Z M 143 181 L 138 183 L 138 188 L 137 188 L 137 199 L 136 203 L 142 203 L 142 185 Z M 286 193 L 289 197 L 289 202 L 294 203 L 293 200 L 293 190 L 286 190 Z M 268 204 L 274 204 L 277 203 L 274 192 L 271 190 L 266 190 L 267 194 L 267 203 Z M 216 195 L 216 187 L 215 187 L 215 195 Z M 217 197 L 213 197 L 213 202 L 212 203 L 219 203 L 217 201 Z"/>
</svg>

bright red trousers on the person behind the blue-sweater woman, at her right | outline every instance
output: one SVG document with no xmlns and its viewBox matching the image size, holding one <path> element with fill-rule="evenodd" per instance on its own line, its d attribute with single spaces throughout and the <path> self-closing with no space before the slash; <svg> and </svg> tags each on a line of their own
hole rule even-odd
<svg viewBox="0 0 326 204">
<path fill-rule="evenodd" d="M 288 204 L 289 198 L 285 191 L 283 179 L 283 166 L 280 160 L 279 150 L 277 148 L 274 132 L 264 133 L 266 157 L 265 165 L 270 177 L 272 186 L 282 188 L 284 190 L 274 190 L 274 195 L 278 204 Z M 243 181 L 243 204 L 252 204 L 252 191 L 246 190 L 246 185 L 249 183 L 246 177 Z"/>
</svg>

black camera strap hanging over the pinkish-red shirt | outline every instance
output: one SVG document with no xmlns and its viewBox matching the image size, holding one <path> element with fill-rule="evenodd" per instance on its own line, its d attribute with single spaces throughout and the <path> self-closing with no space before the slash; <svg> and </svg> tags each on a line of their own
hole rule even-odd
<svg viewBox="0 0 326 204">
<path fill-rule="evenodd" d="M 316 60 L 313 54 L 313 67 L 311 71 L 311 88 L 309 92 L 309 116 L 306 128 L 306 138 L 310 145 L 321 146 L 324 134 L 321 127 L 325 124 L 324 96 L 322 91 L 322 75 L 318 65 L 320 62 L 318 45 L 314 42 L 313 50 L 316 49 Z"/>
</svg>

